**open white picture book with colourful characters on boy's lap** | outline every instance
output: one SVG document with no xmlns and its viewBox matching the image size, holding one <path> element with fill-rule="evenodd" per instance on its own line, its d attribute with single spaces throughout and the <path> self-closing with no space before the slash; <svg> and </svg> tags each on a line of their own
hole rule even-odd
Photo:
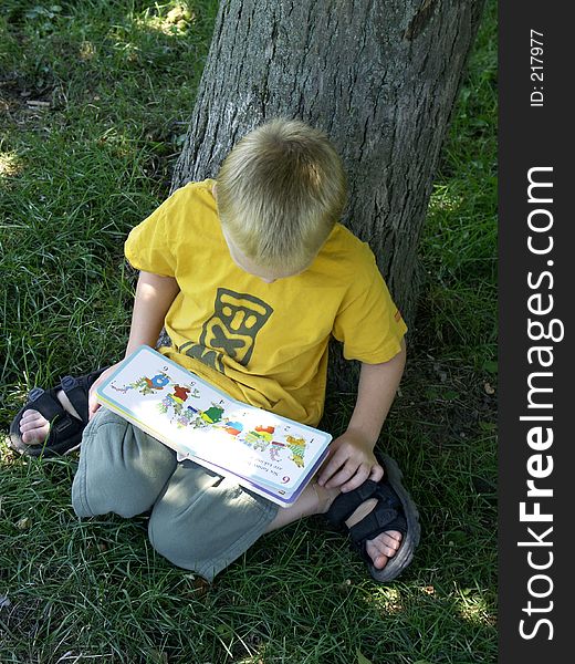
<svg viewBox="0 0 575 664">
<path fill-rule="evenodd" d="M 292 505 L 332 436 L 231 398 L 149 346 L 96 390 L 97 401 L 178 453 L 239 485 Z"/>
</svg>

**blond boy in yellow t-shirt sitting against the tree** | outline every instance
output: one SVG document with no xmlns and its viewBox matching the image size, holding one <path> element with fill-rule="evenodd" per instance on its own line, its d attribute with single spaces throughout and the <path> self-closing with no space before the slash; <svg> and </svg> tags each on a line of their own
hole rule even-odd
<svg viewBox="0 0 575 664">
<path fill-rule="evenodd" d="M 79 517 L 149 511 L 156 550 L 208 581 L 263 533 L 314 513 L 349 529 L 374 579 L 389 581 L 409 564 L 417 509 L 393 459 L 374 453 L 402 375 L 406 325 L 367 245 L 337 224 L 345 199 L 327 138 L 276 120 L 240 141 L 216 180 L 174 193 L 125 245 L 139 270 L 126 354 L 154 347 L 165 328 L 170 344 L 161 353 L 234 398 L 312 426 L 323 413 L 330 336 L 360 361 L 347 430 L 300 499 L 280 509 L 178 463 L 175 452 L 98 409 L 94 387 L 111 367 L 84 377 L 90 422 L 72 486 Z M 73 391 L 63 387 L 52 397 L 70 424 Z M 27 404 L 14 419 L 14 446 L 30 449 L 46 436 L 50 445 L 49 419 Z"/>
</svg>

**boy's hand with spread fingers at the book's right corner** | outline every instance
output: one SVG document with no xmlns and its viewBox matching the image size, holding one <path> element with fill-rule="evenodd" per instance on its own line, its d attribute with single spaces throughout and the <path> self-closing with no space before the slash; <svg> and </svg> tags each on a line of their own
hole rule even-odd
<svg viewBox="0 0 575 664">
<path fill-rule="evenodd" d="M 352 491 L 366 479 L 379 481 L 384 469 L 377 463 L 373 445 L 359 433 L 346 430 L 330 445 L 330 456 L 317 477 L 317 484 L 331 489 Z"/>
</svg>

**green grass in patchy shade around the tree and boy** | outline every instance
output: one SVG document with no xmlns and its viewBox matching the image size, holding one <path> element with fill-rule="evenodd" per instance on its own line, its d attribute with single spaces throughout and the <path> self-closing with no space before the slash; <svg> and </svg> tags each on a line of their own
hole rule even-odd
<svg viewBox="0 0 575 664">
<path fill-rule="evenodd" d="M 80 522 L 75 458 L 2 436 L 34 384 L 125 343 L 123 240 L 167 195 L 216 2 L 0 9 L 0 662 L 466 664 L 496 660 L 496 4 L 436 178 L 408 367 L 383 435 L 422 539 L 378 587 L 310 519 L 266 536 L 207 593 L 145 520 Z M 333 394 L 334 432 L 351 404 Z"/>
</svg>

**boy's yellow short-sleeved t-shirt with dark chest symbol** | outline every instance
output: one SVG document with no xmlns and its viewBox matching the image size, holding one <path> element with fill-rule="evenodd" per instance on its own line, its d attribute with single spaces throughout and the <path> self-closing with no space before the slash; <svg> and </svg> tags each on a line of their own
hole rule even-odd
<svg viewBox="0 0 575 664">
<path fill-rule="evenodd" d="M 400 350 L 407 328 L 369 247 L 337 224 L 307 270 L 265 283 L 232 260 L 215 180 L 175 191 L 129 234 L 125 252 L 146 272 L 174 277 L 160 352 L 230 396 L 303 424 L 323 413 L 327 344 L 370 364 Z"/>
</svg>

